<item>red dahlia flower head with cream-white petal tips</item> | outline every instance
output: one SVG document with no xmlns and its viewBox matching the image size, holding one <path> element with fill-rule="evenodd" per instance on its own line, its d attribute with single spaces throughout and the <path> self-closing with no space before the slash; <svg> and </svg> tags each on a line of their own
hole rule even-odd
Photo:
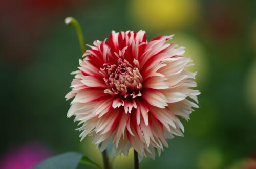
<svg viewBox="0 0 256 169">
<path fill-rule="evenodd" d="M 193 60 L 184 47 L 165 43 L 172 36 L 150 42 L 145 31 L 112 31 L 109 41 L 96 40 L 79 60 L 72 81 L 68 117 L 81 125 L 81 140 L 93 136 L 102 152 L 112 144 L 116 155 L 133 147 L 155 158 L 168 147 L 166 139 L 183 136 L 179 117 L 189 119 L 198 108 L 196 73 L 186 71 Z"/>
</svg>

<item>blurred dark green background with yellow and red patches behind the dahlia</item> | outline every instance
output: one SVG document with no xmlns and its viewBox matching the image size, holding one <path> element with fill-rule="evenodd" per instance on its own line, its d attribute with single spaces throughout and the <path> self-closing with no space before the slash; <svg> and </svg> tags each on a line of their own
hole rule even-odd
<svg viewBox="0 0 256 169">
<path fill-rule="evenodd" d="M 185 136 L 168 140 L 169 148 L 156 160 L 144 158 L 141 168 L 256 168 L 255 8 L 254 0 L 1 2 L 0 166 L 31 143 L 47 156 L 78 151 L 101 163 L 92 138 L 80 142 L 66 117 L 64 96 L 81 58 L 75 30 L 63 22 L 73 16 L 87 44 L 112 30 L 142 29 L 148 41 L 175 34 L 169 42 L 195 61 L 200 108 L 182 121 Z M 132 167 L 132 151 L 114 160 L 114 168 Z"/>
</svg>

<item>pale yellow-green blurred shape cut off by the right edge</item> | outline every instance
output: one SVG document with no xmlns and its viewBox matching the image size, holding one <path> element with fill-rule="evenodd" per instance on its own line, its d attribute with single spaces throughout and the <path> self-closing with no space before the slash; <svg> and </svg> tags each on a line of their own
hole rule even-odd
<svg viewBox="0 0 256 169">
<path fill-rule="evenodd" d="M 254 60 L 248 71 L 246 83 L 247 103 L 256 116 L 256 60 Z"/>
</svg>

